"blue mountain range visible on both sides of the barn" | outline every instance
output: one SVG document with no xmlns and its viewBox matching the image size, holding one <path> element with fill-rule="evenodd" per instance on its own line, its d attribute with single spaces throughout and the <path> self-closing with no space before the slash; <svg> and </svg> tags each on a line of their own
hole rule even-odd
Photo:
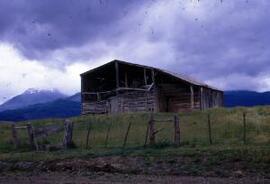
<svg viewBox="0 0 270 184">
<path fill-rule="evenodd" d="M 270 105 L 270 92 L 225 91 L 224 106 Z M 0 121 L 67 118 L 81 113 L 81 94 L 72 96 L 57 90 L 29 89 L 0 105 Z"/>
</svg>

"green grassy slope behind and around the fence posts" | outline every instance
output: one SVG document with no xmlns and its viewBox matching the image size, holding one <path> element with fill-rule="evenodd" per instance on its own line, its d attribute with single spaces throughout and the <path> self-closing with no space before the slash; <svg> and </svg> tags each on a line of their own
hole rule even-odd
<svg viewBox="0 0 270 184">
<path fill-rule="evenodd" d="M 243 112 L 247 112 L 247 143 L 243 144 Z M 211 114 L 213 145 L 209 145 L 207 114 Z M 172 118 L 172 113 L 155 114 L 157 119 Z M 73 141 L 76 149 L 69 151 L 34 153 L 28 148 L 26 130 L 19 130 L 22 146 L 14 150 L 11 140 L 11 128 L 7 123 L 0 125 L 0 159 L 55 159 L 84 156 L 106 155 L 185 155 L 185 154 L 218 154 L 226 150 L 232 154 L 248 152 L 256 159 L 269 159 L 270 155 L 270 107 L 255 108 L 218 108 L 208 111 L 179 113 L 181 128 L 181 147 L 174 148 L 173 124 L 157 123 L 156 129 L 162 129 L 156 136 L 157 145 L 143 149 L 149 114 L 130 113 L 119 115 L 87 115 L 71 118 L 74 122 Z M 122 145 L 128 123 L 132 122 L 128 135 L 126 149 Z M 19 124 L 25 124 L 20 122 Z M 62 119 L 47 119 L 31 121 L 34 127 L 60 124 Z M 91 123 L 90 148 L 85 149 L 87 129 Z M 108 127 L 111 126 L 108 145 L 105 147 L 105 138 Z M 63 140 L 63 132 L 50 136 L 45 142 L 57 144 Z M 41 140 L 40 140 L 41 141 Z M 260 155 L 261 154 L 261 155 Z M 266 155 L 266 156 L 265 156 Z"/>
</svg>

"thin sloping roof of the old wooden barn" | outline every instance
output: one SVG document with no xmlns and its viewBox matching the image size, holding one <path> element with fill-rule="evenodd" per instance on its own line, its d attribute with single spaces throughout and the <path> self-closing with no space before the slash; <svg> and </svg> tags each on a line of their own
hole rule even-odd
<svg viewBox="0 0 270 184">
<path fill-rule="evenodd" d="M 198 81 L 190 76 L 187 76 L 187 75 L 183 75 L 183 74 L 179 74 L 179 73 L 174 73 L 174 72 L 170 72 L 170 71 L 167 71 L 167 70 L 164 70 L 164 69 L 160 69 L 160 68 L 156 68 L 156 67 L 151 67 L 151 66 L 146 66 L 146 65 L 141 65 L 141 64 L 136 64 L 136 63 L 130 63 L 130 62 L 126 62 L 126 61 L 121 61 L 121 60 L 113 60 L 113 61 L 110 61 L 106 64 L 103 64 L 97 68 L 94 68 L 94 69 L 91 69 L 89 71 L 86 71 L 84 73 L 81 74 L 81 76 L 84 76 L 84 75 L 87 75 L 89 73 L 92 73 L 96 70 L 98 70 L 99 68 L 103 68 L 105 67 L 106 65 L 109 65 L 109 64 L 112 64 L 112 63 L 115 63 L 115 62 L 118 62 L 120 64 L 125 64 L 125 65 L 131 65 L 131 66 L 136 66 L 136 67 L 141 67 L 141 68 L 148 68 L 148 69 L 154 69 L 156 71 L 159 71 L 161 73 L 165 73 L 167 75 L 170 75 L 172 77 L 176 77 L 182 81 L 185 81 L 187 83 L 190 83 L 190 84 L 193 84 L 193 85 L 196 85 L 196 86 L 201 86 L 201 87 L 205 87 L 205 88 L 210 88 L 210 89 L 213 89 L 213 90 L 217 90 L 217 91 L 222 91 L 220 89 L 217 89 L 213 86 L 209 86 L 208 84 L 204 83 L 204 82 L 201 82 L 201 81 Z"/>
</svg>

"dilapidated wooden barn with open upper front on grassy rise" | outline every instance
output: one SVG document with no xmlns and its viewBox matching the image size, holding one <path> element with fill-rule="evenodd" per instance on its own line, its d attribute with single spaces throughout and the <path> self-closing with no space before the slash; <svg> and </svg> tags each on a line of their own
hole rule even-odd
<svg viewBox="0 0 270 184">
<path fill-rule="evenodd" d="M 162 69 L 113 60 L 81 74 L 82 114 L 180 112 L 223 105 L 223 91 Z"/>
</svg>

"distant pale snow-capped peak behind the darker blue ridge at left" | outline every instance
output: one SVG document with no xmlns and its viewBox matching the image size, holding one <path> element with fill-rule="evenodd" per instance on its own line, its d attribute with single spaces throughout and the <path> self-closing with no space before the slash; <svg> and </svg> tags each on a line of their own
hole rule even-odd
<svg viewBox="0 0 270 184">
<path fill-rule="evenodd" d="M 61 98 L 66 98 L 66 95 L 62 94 L 56 89 L 40 90 L 30 88 L 22 94 L 15 96 L 4 104 L 0 105 L 0 111 L 13 110 L 29 105 L 47 103 Z"/>
</svg>

